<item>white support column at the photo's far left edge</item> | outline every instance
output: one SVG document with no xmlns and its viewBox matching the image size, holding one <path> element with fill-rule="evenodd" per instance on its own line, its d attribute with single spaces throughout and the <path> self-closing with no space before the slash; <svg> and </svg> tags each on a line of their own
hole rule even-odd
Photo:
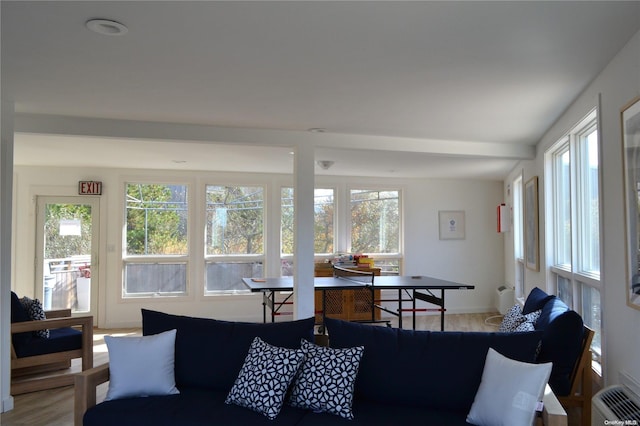
<svg viewBox="0 0 640 426">
<path fill-rule="evenodd" d="M 13 198 L 13 103 L 0 106 L 0 412 L 11 396 L 11 215 Z"/>
</svg>

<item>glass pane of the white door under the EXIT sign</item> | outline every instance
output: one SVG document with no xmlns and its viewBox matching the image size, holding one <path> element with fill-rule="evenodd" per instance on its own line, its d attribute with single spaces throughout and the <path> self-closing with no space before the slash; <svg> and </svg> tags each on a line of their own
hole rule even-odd
<svg viewBox="0 0 640 426">
<path fill-rule="evenodd" d="M 45 310 L 90 310 L 91 219 L 91 205 L 88 204 L 45 206 Z"/>
</svg>

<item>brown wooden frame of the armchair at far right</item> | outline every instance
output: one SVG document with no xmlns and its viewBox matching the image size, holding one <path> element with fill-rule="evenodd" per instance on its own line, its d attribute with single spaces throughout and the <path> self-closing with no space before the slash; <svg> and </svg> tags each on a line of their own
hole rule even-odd
<svg viewBox="0 0 640 426">
<path fill-rule="evenodd" d="M 571 391 L 566 396 L 558 396 L 558 400 L 565 409 L 570 407 L 581 409 L 583 426 L 591 426 L 591 397 L 593 396 L 591 341 L 594 334 L 595 331 L 587 326 L 584 327 L 582 352 L 571 373 Z"/>
</svg>

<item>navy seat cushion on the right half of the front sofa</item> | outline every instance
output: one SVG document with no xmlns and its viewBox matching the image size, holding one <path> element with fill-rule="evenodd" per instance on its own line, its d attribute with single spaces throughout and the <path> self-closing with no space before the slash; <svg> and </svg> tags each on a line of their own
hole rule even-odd
<svg viewBox="0 0 640 426">
<path fill-rule="evenodd" d="M 390 425 L 446 425 L 466 426 L 466 412 L 443 411 L 423 407 L 406 407 L 356 400 L 353 420 L 329 413 L 308 412 L 298 426 L 390 426 Z"/>
</svg>

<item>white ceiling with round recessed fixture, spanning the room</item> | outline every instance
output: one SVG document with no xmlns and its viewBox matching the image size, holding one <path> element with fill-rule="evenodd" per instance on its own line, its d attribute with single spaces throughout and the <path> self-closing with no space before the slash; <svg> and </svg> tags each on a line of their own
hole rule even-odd
<svg viewBox="0 0 640 426">
<path fill-rule="evenodd" d="M 173 142 L 16 126 L 18 165 L 84 152 L 96 167 L 289 173 L 291 148 L 270 142 L 286 136 L 336 162 L 319 174 L 501 179 L 640 30 L 640 1 L 1 7 L 2 98 L 18 117 L 186 125 Z M 91 18 L 129 31 L 92 33 Z M 186 136 L 202 125 L 210 140 Z"/>
</svg>

